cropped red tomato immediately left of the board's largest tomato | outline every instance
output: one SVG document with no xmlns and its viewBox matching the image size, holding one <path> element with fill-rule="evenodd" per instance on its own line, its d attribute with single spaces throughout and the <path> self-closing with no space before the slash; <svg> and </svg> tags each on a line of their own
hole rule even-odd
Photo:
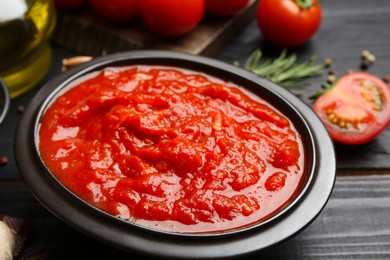
<svg viewBox="0 0 390 260">
<path fill-rule="evenodd" d="M 139 14 L 139 0 L 89 0 L 94 11 L 115 22 L 135 19 Z"/>
</svg>

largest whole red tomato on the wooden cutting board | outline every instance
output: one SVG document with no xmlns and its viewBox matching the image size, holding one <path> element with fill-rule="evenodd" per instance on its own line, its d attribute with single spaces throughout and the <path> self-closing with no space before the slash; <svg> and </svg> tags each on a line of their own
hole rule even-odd
<svg viewBox="0 0 390 260">
<path fill-rule="evenodd" d="M 204 0 L 140 0 L 146 26 L 162 36 L 175 37 L 193 30 L 204 13 Z"/>
</svg>

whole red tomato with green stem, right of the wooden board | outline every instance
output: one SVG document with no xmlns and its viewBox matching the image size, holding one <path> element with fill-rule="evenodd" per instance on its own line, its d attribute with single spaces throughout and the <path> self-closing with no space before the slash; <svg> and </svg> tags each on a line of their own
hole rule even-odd
<svg viewBox="0 0 390 260">
<path fill-rule="evenodd" d="M 321 23 L 317 0 L 260 0 L 257 24 L 263 36 L 281 47 L 307 42 Z"/>
</svg>

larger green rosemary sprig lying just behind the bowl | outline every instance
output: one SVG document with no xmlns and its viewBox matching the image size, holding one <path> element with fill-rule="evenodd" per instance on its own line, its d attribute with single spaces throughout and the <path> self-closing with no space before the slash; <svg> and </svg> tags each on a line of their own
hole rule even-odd
<svg viewBox="0 0 390 260">
<path fill-rule="evenodd" d="M 262 51 L 255 50 L 246 60 L 244 67 L 267 78 L 283 87 L 298 87 L 309 85 L 305 79 L 322 75 L 326 67 L 325 64 L 315 64 L 316 57 L 313 56 L 303 63 L 297 63 L 297 55 L 292 53 L 287 55 L 287 50 L 283 49 L 279 57 L 271 61 L 262 61 Z"/>
</svg>

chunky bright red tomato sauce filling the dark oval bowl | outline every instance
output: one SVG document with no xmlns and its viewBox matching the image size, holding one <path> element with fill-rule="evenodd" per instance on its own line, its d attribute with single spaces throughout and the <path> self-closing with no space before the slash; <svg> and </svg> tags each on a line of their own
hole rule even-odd
<svg viewBox="0 0 390 260">
<path fill-rule="evenodd" d="M 259 222 L 294 198 L 302 141 L 271 105 L 235 85 L 170 67 L 108 68 L 44 113 L 39 151 L 77 196 L 174 232 Z"/>
</svg>

